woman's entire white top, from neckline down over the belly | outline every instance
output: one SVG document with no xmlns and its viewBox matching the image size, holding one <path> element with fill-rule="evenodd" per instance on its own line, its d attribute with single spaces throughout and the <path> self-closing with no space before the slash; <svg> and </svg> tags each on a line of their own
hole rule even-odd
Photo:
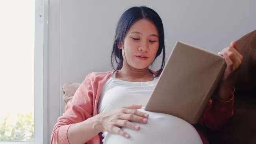
<svg viewBox="0 0 256 144">
<path fill-rule="evenodd" d="M 106 81 L 98 101 L 98 113 L 133 104 L 142 104 L 142 109 L 156 86 L 158 77 L 147 82 L 122 81 L 115 78 L 115 73 Z M 186 121 L 169 114 L 149 114 L 148 123 L 140 124 L 140 129 L 122 127 L 130 138 L 102 131 L 104 144 L 202 144 L 195 128 Z"/>
</svg>

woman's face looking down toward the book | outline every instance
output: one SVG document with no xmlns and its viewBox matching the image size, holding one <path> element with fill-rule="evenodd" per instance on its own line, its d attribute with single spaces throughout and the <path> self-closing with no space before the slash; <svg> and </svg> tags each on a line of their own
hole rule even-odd
<svg viewBox="0 0 256 144">
<path fill-rule="evenodd" d="M 158 51 L 158 30 L 149 20 L 141 19 L 135 22 L 119 46 L 122 49 L 124 63 L 135 69 L 150 66 Z"/>
</svg>

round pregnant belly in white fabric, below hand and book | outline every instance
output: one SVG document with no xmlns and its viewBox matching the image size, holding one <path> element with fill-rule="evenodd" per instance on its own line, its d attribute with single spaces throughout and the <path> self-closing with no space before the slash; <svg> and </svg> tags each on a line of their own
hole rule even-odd
<svg viewBox="0 0 256 144">
<path fill-rule="evenodd" d="M 122 127 L 130 138 L 105 132 L 104 144 L 202 144 L 196 129 L 185 120 L 169 114 L 139 111 L 149 114 L 147 124 L 134 122 L 140 126 L 138 131 Z"/>
</svg>

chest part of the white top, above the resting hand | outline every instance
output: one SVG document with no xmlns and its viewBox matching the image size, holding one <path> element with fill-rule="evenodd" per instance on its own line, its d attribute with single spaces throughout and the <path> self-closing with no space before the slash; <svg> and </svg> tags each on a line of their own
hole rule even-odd
<svg viewBox="0 0 256 144">
<path fill-rule="evenodd" d="M 147 82 L 130 82 L 116 79 L 114 73 L 102 89 L 98 100 L 98 113 L 113 111 L 134 104 L 142 104 L 144 107 L 158 78 Z"/>
</svg>

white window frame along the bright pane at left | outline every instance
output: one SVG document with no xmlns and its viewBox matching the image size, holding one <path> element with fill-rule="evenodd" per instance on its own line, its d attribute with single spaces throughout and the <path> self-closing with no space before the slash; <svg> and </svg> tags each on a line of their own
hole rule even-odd
<svg viewBox="0 0 256 144">
<path fill-rule="evenodd" d="M 3 141 L 0 144 L 48 143 L 48 6 L 49 0 L 35 0 L 34 116 L 35 139 Z"/>
</svg>

